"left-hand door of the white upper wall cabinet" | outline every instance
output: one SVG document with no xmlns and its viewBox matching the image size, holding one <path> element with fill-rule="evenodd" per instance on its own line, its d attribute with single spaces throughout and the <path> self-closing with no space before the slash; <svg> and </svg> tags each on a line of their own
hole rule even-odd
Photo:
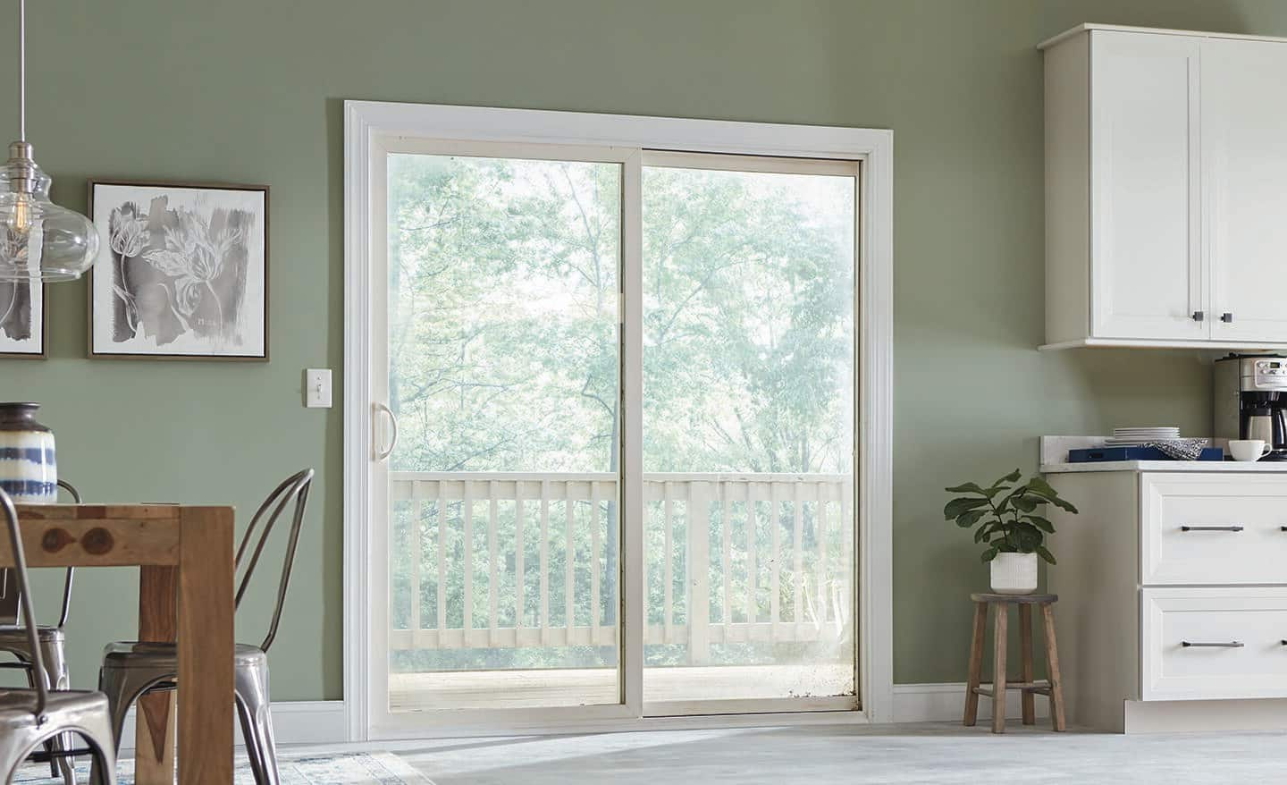
<svg viewBox="0 0 1287 785">
<path fill-rule="evenodd" d="M 1203 340 L 1199 40 L 1090 41 L 1091 333 Z"/>
</svg>

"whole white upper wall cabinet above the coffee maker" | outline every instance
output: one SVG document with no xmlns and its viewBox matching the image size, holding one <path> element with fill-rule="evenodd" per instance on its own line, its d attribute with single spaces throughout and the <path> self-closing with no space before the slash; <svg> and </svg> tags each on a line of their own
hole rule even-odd
<svg viewBox="0 0 1287 785">
<path fill-rule="evenodd" d="M 1046 345 L 1287 345 L 1287 42 L 1051 39 Z"/>
</svg>

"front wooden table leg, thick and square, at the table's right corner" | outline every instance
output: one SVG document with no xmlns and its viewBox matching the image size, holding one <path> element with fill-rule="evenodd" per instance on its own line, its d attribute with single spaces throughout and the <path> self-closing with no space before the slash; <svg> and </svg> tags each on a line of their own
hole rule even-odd
<svg viewBox="0 0 1287 785">
<path fill-rule="evenodd" d="M 233 781 L 233 510 L 179 526 L 179 785 Z"/>
</svg>

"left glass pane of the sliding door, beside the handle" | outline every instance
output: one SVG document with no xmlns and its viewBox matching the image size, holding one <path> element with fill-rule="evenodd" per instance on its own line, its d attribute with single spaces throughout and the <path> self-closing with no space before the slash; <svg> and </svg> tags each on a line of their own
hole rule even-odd
<svg viewBox="0 0 1287 785">
<path fill-rule="evenodd" d="M 387 166 L 390 709 L 619 703 L 620 166 Z"/>
</svg>

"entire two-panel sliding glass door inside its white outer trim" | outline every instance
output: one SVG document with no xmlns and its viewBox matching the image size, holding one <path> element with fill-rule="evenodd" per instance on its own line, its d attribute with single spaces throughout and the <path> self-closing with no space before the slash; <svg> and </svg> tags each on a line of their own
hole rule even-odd
<svg viewBox="0 0 1287 785">
<path fill-rule="evenodd" d="M 858 163 L 372 170 L 384 722 L 857 708 Z"/>
</svg>

